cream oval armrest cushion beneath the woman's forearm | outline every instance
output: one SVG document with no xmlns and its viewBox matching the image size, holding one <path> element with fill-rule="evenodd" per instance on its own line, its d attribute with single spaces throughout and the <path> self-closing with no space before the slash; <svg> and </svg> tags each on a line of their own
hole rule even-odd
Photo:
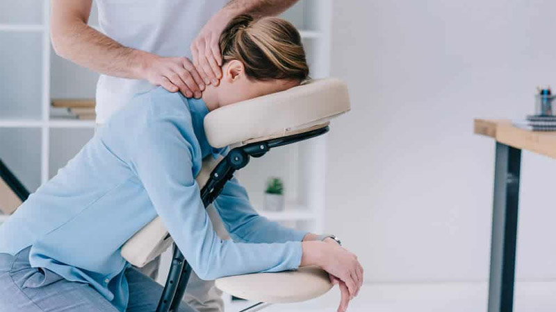
<svg viewBox="0 0 556 312">
<path fill-rule="evenodd" d="M 277 304 L 311 300 L 327 293 L 332 284 L 327 272 L 307 266 L 295 271 L 222 277 L 216 280 L 216 287 L 243 299 Z"/>
</svg>

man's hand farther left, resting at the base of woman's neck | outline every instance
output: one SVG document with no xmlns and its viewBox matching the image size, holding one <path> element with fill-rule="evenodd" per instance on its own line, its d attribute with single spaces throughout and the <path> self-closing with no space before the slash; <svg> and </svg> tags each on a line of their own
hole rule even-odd
<svg viewBox="0 0 556 312">
<path fill-rule="evenodd" d="M 205 84 L 188 58 L 163 58 L 143 53 L 144 62 L 140 76 L 153 85 L 161 85 L 170 92 L 181 92 L 184 96 L 200 98 Z"/>
</svg>

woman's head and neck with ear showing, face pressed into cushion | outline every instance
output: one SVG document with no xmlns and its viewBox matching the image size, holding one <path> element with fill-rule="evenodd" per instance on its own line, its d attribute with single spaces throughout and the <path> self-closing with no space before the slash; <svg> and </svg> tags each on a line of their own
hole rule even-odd
<svg viewBox="0 0 556 312">
<path fill-rule="evenodd" d="M 208 85 L 208 110 L 284 91 L 309 76 L 300 33 L 277 17 L 234 17 L 220 35 L 222 78 Z"/>
</svg>

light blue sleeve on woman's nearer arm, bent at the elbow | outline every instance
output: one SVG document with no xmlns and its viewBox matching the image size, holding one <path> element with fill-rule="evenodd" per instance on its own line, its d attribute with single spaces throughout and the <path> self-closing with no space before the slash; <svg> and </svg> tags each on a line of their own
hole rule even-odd
<svg viewBox="0 0 556 312">
<path fill-rule="evenodd" d="M 235 243 L 223 241 L 215 234 L 194 178 L 194 172 L 200 166 L 200 160 L 197 160 L 200 151 L 190 116 L 152 117 L 137 133 L 131 150 L 132 169 L 172 239 L 201 279 L 292 270 L 300 265 L 300 241 Z M 231 189 L 234 193 L 233 186 Z M 240 208 L 246 209 L 244 205 Z M 252 218 L 250 213 L 247 215 Z M 238 229 L 232 232 L 247 239 L 253 239 L 256 232 L 261 232 L 258 229 L 250 234 L 249 227 L 245 227 L 249 222 L 238 224 Z M 255 224 L 263 223 L 257 221 Z M 272 240 L 268 238 L 280 236 L 279 232 L 282 231 L 267 231 L 267 239 L 261 241 L 270 242 Z M 297 240 L 294 236 L 288 235 L 288 239 Z"/>
</svg>

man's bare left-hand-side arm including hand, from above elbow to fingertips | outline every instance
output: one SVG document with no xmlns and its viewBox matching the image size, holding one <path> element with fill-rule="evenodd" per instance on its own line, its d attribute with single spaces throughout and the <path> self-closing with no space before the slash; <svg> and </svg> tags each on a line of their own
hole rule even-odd
<svg viewBox="0 0 556 312">
<path fill-rule="evenodd" d="M 87 25 L 92 0 L 53 0 L 51 36 L 58 55 L 108 76 L 145 79 L 200 98 L 205 83 L 187 58 L 162 58 L 122 46 Z"/>
</svg>

